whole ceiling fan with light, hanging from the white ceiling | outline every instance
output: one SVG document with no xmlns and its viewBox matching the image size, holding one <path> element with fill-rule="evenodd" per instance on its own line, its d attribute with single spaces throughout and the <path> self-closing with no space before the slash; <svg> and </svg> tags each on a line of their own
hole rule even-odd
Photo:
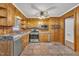
<svg viewBox="0 0 79 59">
<path fill-rule="evenodd" d="M 33 9 L 35 9 L 35 10 L 38 11 L 38 12 L 37 12 L 35 15 L 33 15 L 33 16 L 39 15 L 38 18 L 40 18 L 40 19 L 49 17 L 49 13 L 48 13 L 48 12 L 49 12 L 50 10 L 56 8 L 56 6 L 52 6 L 52 7 L 47 8 L 46 10 L 41 10 L 41 9 L 39 9 L 37 6 L 35 6 L 34 4 L 32 4 L 31 7 L 32 7 Z"/>
</svg>

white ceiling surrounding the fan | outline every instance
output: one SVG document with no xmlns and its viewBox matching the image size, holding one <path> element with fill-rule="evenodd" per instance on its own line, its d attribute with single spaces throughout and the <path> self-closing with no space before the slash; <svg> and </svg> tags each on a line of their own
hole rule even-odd
<svg viewBox="0 0 79 59">
<path fill-rule="evenodd" d="M 32 5 L 36 6 L 40 10 L 46 10 L 47 8 L 50 8 L 54 6 L 55 8 L 52 8 L 48 11 L 48 14 L 50 17 L 58 17 L 78 5 L 78 3 L 15 3 L 17 8 L 19 8 L 26 17 L 38 17 L 39 11 L 32 8 Z"/>
</svg>

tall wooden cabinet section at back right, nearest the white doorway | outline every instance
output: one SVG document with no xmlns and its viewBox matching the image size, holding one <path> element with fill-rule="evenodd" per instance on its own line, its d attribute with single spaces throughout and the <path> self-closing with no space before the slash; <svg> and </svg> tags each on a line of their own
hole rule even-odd
<svg viewBox="0 0 79 59">
<path fill-rule="evenodd" d="M 60 42 L 60 18 L 52 17 L 49 22 L 49 30 L 51 33 L 51 41 L 52 42 Z M 57 28 L 59 26 L 59 28 Z"/>
</svg>

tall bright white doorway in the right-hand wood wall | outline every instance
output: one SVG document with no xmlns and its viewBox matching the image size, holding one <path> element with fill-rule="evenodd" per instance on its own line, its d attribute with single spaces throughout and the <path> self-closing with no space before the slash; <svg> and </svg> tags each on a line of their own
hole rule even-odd
<svg viewBox="0 0 79 59">
<path fill-rule="evenodd" d="M 74 49 L 74 18 L 65 19 L 65 45 Z"/>
</svg>

